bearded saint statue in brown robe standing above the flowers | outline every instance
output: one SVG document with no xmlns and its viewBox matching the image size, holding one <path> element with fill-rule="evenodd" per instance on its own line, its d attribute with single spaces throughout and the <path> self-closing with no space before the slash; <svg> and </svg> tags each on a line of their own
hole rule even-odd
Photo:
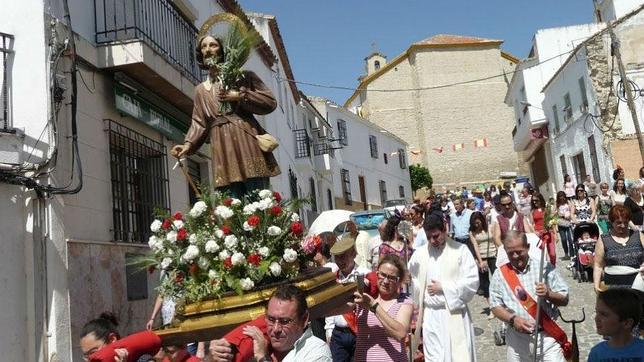
<svg viewBox="0 0 644 362">
<path fill-rule="evenodd" d="M 170 151 L 174 157 L 195 153 L 210 139 L 212 182 L 218 191 L 241 197 L 251 190 L 269 187 L 269 177 L 280 174 L 271 152 L 263 152 L 256 135 L 266 133 L 253 114 L 268 114 L 277 102 L 273 93 L 250 71 L 236 86 L 225 90 L 217 81 L 218 64 L 226 54 L 221 40 L 211 35 L 197 39 L 196 58 L 208 79 L 195 88 L 192 124 L 183 145 Z M 221 111 L 228 102 L 230 111 Z"/>
</svg>

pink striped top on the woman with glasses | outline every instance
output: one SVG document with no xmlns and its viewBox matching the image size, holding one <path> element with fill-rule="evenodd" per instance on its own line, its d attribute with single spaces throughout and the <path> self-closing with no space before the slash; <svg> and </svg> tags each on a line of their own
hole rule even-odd
<svg viewBox="0 0 644 362">
<path fill-rule="evenodd" d="M 413 304 L 412 300 L 401 295 L 389 307 L 387 314 L 396 318 L 398 311 L 405 304 Z M 407 351 L 404 342 L 390 337 L 382 322 L 368 309 L 358 308 L 358 335 L 356 338 L 355 362 L 389 362 L 407 361 Z"/>
</svg>

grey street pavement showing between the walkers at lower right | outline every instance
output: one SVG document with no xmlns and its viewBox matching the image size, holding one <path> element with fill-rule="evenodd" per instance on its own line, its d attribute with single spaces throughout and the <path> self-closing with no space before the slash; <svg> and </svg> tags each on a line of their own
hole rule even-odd
<svg viewBox="0 0 644 362">
<path fill-rule="evenodd" d="M 557 256 L 564 255 L 561 246 L 557 245 Z M 559 259 L 559 258 L 558 258 Z M 593 319 L 595 312 L 595 291 L 590 282 L 579 283 L 572 278 L 570 270 L 566 269 L 567 260 L 559 260 L 557 269 L 564 277 L 570 288 L 570 302 L 568 306 L 562 307 L 561 314 L 567 320 L 581 319 L 581 309 L 586 312 L 586 320 L 576 325 L 577 340 L 579 343 L 579 361 L 586 361 L 590 349 L 602 340 L 595 330 Z M 500 329 L 501 322 L 494 318 L 488 319 L 484 314 L 487 302 L 482 296 L 475 296 L 469 303 L 470 313 L 474 320 L 474 333 L 476 335 L 476 356 L 479 362 L 506 361 L 507 346 L 496 346 L 493 333 Z M 558 320 L 559 325 L 564 329 L 568 338 L 572 340 L 572 325 L 565 324 Z"/>
</svg>

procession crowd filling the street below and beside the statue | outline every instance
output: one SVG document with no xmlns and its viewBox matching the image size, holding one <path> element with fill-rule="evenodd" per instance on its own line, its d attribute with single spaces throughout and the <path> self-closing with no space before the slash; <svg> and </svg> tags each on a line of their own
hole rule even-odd
<svg viewBox="0 0 644 362">
<path fill-rule="evenodd" d="M 557 261 L 574 260 L 580 243 L 592 240 L 595 324 L 604 341 L 588 361 L 644 360 L 637 291 L 644 291 L 644 168 L 639 180 L 624 179 L 619 169 L 614 176 L 612 185 L 597 185 L 590 177 L 575 185 L 566 175 L 549 202 L 529 184 L 520 190 L 506 183 L 499 189 L 431 194 L 393 213 L 366 242 L 356 242 L 364 235 L 355 227 L 337 237 L 321 235 L 315 262 L 336 272 L 339 283 L 358 284 L 353 300 L 326 317 L 311 318 L 304 292 L 286 284 L 270 298 L 265 316 L 221 339 L 164 347 L 157 354 L 160 342 L 149 330 L 159 312 L 166 324 L 173 311 L 171 300 L 159 298 L 148 331 L 131 339 L 146 340 L 150 348 L 119 344 L 116 321 L 102 315 L 82 331 L 83 356 L 91 361 L 476 361 L 468 303 L 479 294 L 488 302 L 488 318 L 501 321 L 508 361 L 532 360 L 536 348 L 539 360 L 563 362 L 572 345 L 558 324 L 558 308 L 575 296 Z M 546 224 L 549 215 L 556 215 L 555 225 Z M 596 225 L 596 235 L 581 225 Z M 539 244 L 551 227 L 555 238 L 543 243 L 549 250 L 542 263 Z M 559 258 L 555 243 L 564 252 Z M 101 351 L 108 357 L 96 357 Z"/>
</svg>

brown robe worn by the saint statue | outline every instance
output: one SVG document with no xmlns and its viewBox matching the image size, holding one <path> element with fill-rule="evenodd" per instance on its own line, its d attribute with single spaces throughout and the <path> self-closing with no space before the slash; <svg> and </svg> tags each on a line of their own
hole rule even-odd
<svg viewBox="0 0 644 362">
<path fill-rule="evenodd" d="M 273 154 L 259 148 L 255 135 L 266 131 L 253 116 L 273 112 L 277 102 L 255 73 L 244 74 L 238 87 L 242 99 L 233 102 L 233 111 L 227 114 L 219 111 L 219 83 L 213 83 L 210 91 L 204 83 L 195 88 L 192 124 L 185 141 L 192 144 L 190 153 L 194 153 L 210 136 L 215 188 L 280 174 Z"/>
</svg>

